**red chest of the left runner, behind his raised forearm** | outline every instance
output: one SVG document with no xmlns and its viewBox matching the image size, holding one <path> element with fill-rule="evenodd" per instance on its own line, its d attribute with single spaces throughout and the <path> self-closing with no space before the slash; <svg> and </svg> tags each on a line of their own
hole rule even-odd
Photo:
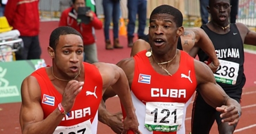
<svg viewBox="0 0 256 134">
<path fill-rule="evenodd" d="M 97 85 L 97 83 L 85 83 L 77 95 L 73 107 L 69 111 L 69 115 L 64 116 L 60 125 L 69 126 L 93 119 L 100 104 L 101 96 L 101 85 Z M 57 108 L 58 104 L 62 102 L 62 99 L 63 96 L 57 93 L 55 89 L 42 91 L 41 106 L 45 118 Z"/>
</svg>

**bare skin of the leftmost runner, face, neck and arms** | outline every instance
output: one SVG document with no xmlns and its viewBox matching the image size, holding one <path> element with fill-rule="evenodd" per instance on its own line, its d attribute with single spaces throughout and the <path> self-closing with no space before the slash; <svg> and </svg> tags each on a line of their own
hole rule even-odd
<svg viewBox="0 0 256 134">
<path fill-rule="evenodd" d="M 84 85 L 83 49 L 81 37 L 73 34 L 60 35 L 59 43 L 55 50 L 48 47 L 49 56 L 52 58 L 52 66 L 47 67 L 46 72 L 55 89 L 63 95 L 61 104 L 65 111 L 71 110 L 77 94 L 80 93 Z M 112 86 L 115 93 L 120 95 L 121 102 L 125 104 L 125 110 L 129 111 L 127 112 L 129 116 L 124 120 L 123 133 L 128 129 L 138 131 L 139 124 L 135 115 L 135 108 L 131 102 L 129 85 L 125 73 L 114 64 L 99 62 L 94 65 L 98 68 L 102 77 L 102 95 L 107 87 Z M 71 69 L 73 66 L 77 68 L 75 71 Z M 54 75 L 60 79 L 73 79 L 79 74 L 80 69 L 81 72 L 78 77 L 71 81 L 61 81 L 53 76 L 52 69 Z M 40 86 L 34 76 L 28 76 L 24 79 L 21 94 L 20 126 L 22 133 L 53 133 L 63 119 L 64 114 L 56 108 L 44 119 L 44 113 L 40 106 Z"/>
</svg>

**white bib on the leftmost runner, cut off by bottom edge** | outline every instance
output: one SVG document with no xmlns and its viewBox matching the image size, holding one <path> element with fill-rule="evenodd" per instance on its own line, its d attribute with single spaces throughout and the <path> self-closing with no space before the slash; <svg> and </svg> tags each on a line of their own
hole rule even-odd
<svg viewBox="0 0 256 134">
<path fill-rule="evenodd" d="M 86 120 L 85 122 L 68 127 L 58 126 L 53 134 L 92 134 L 91 128 L 90 120 Z"/>
</svg>

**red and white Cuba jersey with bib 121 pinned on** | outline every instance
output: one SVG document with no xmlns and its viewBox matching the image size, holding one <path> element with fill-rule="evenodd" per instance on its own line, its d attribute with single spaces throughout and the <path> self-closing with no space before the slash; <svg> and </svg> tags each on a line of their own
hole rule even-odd
<svg viewBox="0 0 256 134">
<path fill-rule="evenodd" d="M 196 90 L 194 58 L 180 51 L 179 69 L 172 76 L 155 72 L 146 51 L 134 56 L 131 96 L 143 134 L 184 134 L 185 114 Z"/>
</svg>

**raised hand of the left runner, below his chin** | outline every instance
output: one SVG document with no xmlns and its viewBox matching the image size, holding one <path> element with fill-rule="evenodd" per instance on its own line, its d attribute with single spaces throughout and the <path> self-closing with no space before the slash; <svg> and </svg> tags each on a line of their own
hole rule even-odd
<svg viewBox="0 0 256 134">
<path fill-rule="evenodd" d="M 78 82 L 76 80 L 69 81 L 65 87 L 62 95 L 62 106 L 66 112 L 69 112 L 73 107 L 77 94 L 82 90 L 84 82 Z"/>
</svg>

